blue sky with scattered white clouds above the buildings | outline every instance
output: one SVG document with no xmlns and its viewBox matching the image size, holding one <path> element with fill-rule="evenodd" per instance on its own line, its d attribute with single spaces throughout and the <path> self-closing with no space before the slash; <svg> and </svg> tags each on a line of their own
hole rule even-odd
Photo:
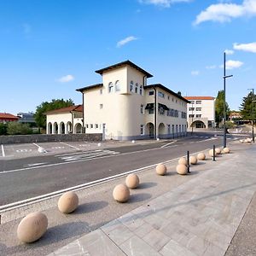
<svg viewBox="0 0 256 256">
<path fill-rule="evenodd" d="M 256 89 L 256 0 L 0 0 L 0 112 L 82 103 L 97 69 L 130 60 L 183 96 L 238 110 Z"/>
</svg>

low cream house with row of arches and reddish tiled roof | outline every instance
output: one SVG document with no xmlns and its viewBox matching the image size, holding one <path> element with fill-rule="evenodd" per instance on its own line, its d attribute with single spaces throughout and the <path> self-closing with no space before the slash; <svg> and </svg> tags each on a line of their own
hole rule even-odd
<svg viewBox="0 0 256 256">
<path fill-rule="evenodd" d="M 83 105 L 59 108 L 44 113 L 47 134 L 82 133 Z"/>
</svg>

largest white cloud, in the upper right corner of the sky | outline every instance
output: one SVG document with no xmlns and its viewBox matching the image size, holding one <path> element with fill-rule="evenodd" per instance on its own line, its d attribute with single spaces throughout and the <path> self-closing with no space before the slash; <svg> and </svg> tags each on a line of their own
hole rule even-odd
<svg viewBox="0 0 256 256">
<path fill-rule="evenodd" d="M 239 17 L 256 15 L 256 0 L 243 0 L 241 4 L 216 3 L 196 16 L 194 25 L 205 21 L 226 22 Z"/>
</svg>

